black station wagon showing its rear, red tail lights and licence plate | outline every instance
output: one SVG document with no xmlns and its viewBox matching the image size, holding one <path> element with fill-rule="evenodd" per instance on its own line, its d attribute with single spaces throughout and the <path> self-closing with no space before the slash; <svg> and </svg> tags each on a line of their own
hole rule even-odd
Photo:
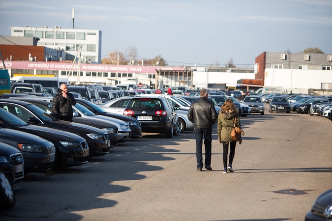
<svg viewBox="0 0 332 221">
<path fill-rule="evenodd" d="M 142 132 L 160 133 L 165 134 L 166 138 L 173 138 L 173 130 L 178 128 L 179 124 L 181 132 L 181 122 L 175 112 L 178 109 L 173 107 L 163 95 L 144 96 L 130 99 L 123 114 L 139 120 Z"/>
</svg>

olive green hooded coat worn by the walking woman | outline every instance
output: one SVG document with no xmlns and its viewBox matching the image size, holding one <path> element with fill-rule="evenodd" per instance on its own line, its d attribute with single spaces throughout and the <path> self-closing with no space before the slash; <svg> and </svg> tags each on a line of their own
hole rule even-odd
<svg viewBox="0 0 332 221">
<path fill-rule="evenodd" d="M 241 128 L 239 111 L 237 109 L 225 112 L 220 109 L 218 116 L 218 139 L 224 142 L 232 142 L 234 141 L 231 138 L 231 133 L 234 126 L 234 119 L 236 117 L 235 126 Z"/>
</svg>

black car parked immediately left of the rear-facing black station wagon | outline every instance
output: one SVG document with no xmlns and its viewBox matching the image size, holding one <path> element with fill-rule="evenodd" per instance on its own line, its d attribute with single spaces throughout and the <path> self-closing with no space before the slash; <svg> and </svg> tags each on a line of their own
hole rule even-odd
<svg viewBox="0 0 332 221">
<path fill-rule="evenodd" d="M 136 120 L 133 117 L 128 117 L 125 115 L 117 114 L 117 113 L 109 113 L 104 109 L 100 108 L 99 106 L 92 104 L 91 102 L 84 100 L 84 99 L 76 99 L 76 101 L 88 109 L 89 111 L 93 112 L 95 115 L 102 115 L 108 116 L 115 119 L 123 120 L 126 122 L 130 129 L 131 129 L 131 136 L 130 137 L 141 137 L 142 136 L 142 126 L 140 121 Z"/>
</svg>

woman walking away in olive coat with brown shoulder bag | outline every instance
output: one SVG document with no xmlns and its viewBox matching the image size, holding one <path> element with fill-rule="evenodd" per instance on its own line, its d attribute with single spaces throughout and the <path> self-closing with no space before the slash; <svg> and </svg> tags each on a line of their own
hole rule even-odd
<svg viewBox="0 0 332 221">
<path fill-rule="evenodd" d="M 224 163 L 223 173 L 227 173 L 227 168 L 229 169 L 230 172 L 234 172 L 232 164 L 235 155 L 236 141 L 234 141 L 231 138 L 231 132 L 233 130 L 234 121 L 236 121 L 235 126 L 241 128 L 239 111 L 235 107 L 232 99 L 227 99 L 223 104 L 223 106 L 221 106 L 221 110 L 218 116 L 218 129 L 217 129 L 219 142 L 222 143 L 224 149 L 222 156 L 222 160 Z M 227 166 L 228 143 L 230 143 L 231 152 L 229 154 L 229 164 Z"/>
</svg>

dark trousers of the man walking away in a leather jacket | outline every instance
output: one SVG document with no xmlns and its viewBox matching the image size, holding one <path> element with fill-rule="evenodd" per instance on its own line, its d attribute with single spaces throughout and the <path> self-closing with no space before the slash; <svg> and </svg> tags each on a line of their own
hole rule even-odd
<svg viewBox="0 0 332 221">
<path fill-rule="evenodd" d="M 211 166 L 211 128 L 195 128 L 197 168 L 203 168 L 202 144 L 204 136 L 205 166 Z"/>
</svg>

